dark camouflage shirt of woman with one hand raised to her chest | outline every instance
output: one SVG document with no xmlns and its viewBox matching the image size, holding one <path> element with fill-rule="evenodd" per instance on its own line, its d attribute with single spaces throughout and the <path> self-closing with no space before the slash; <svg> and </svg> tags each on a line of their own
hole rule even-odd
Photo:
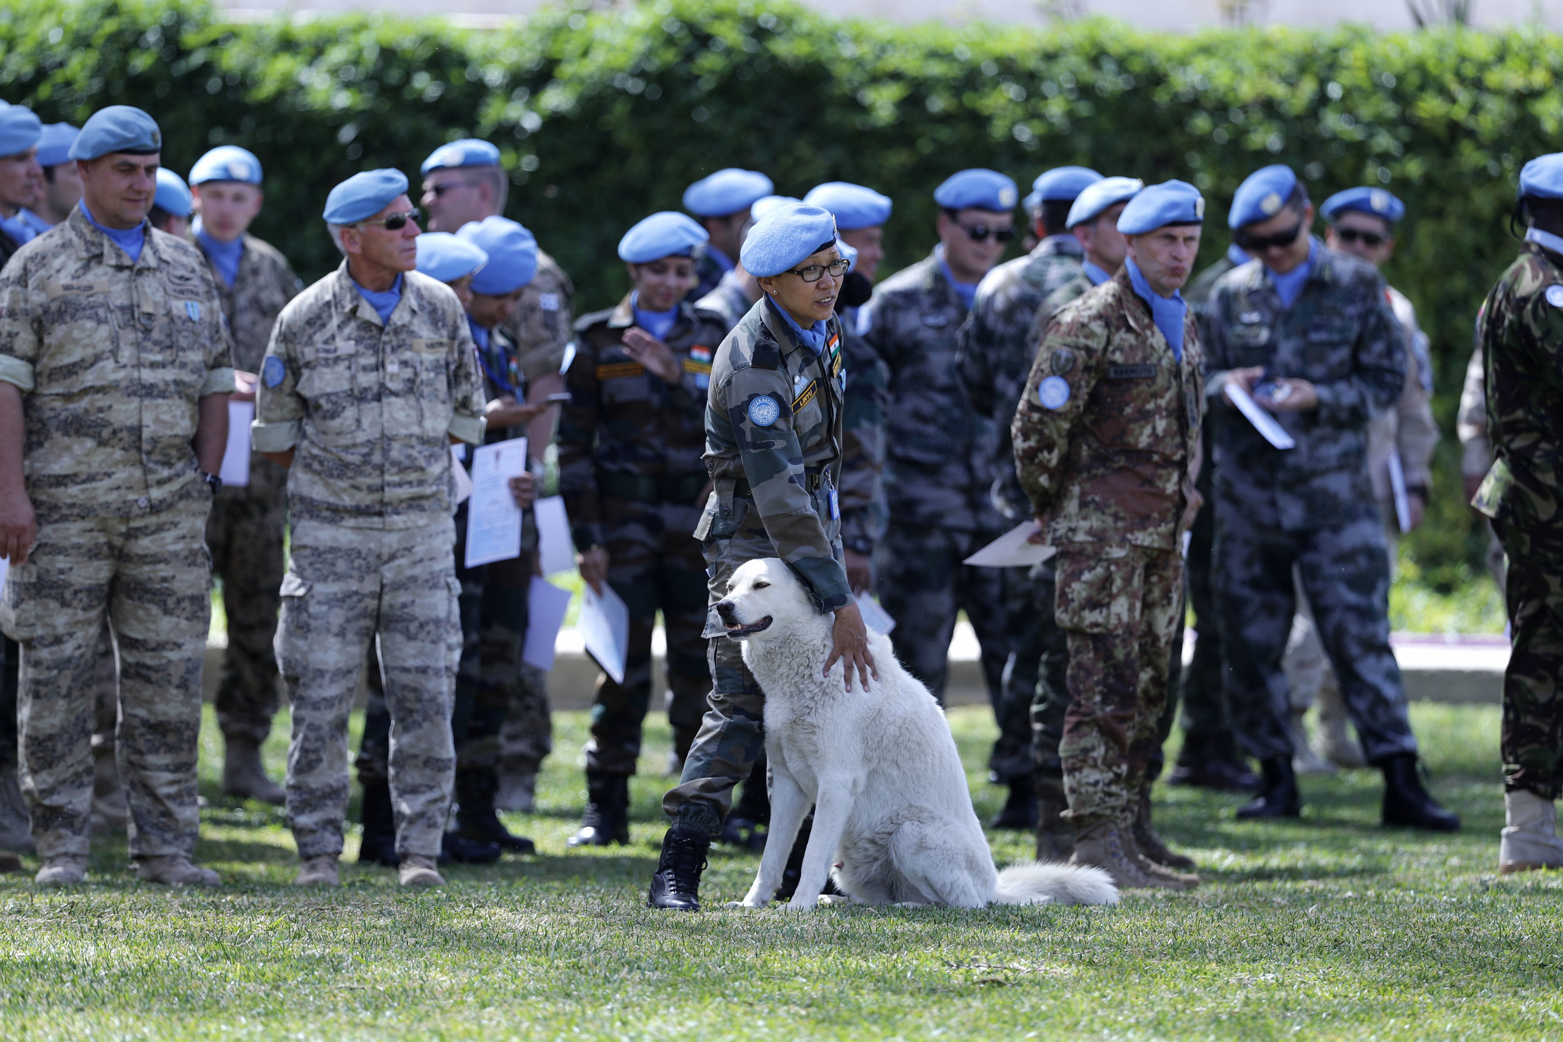
<svg viewBox="0 0 1563 1042">
<path fill-rule="evenodd" d="M 705 398 L 727 330 L 717 316 L 681 303 L 664 341 L 681 378 L 669 384 L 624 350 L 631 325 L 630 297 L 575 323 L 558 447 L 560 495 L 581 548 L 606 542 L 600 497 L 696 503 L 706 481 Z"/>
</svg>

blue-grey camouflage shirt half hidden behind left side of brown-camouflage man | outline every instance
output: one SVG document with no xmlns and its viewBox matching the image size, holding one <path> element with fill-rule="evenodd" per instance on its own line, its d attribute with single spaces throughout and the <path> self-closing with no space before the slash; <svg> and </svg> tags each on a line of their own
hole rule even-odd
<svg viewBox="0 0 1563 1042">
<path fill-rule="evenodd" d="M 1011 520 L 1030 514 L 1014 476 L 1010 420 L 1036 358 L 1032 325 L 1049 295 L 1075 277 L 1083 278 L 1083 256 L 1072 234 L 1047 236 L 1027 256 L 988 272 L 977 286 L 971 317 L 961 327 L 957 361 L 961 384 L 972 411 L 989 420 L 985 425 L 988 444 L 980 447 L 993 473 L 989 495 L 993 506 Z M 1089 287 L 1086 281 L 1085 289 Z"/>
</svg>

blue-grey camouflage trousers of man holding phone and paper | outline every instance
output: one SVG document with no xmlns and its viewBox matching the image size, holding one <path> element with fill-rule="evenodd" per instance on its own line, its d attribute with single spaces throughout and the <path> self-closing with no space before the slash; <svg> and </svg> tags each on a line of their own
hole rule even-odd
<svg viewBox="0 0 1563 1042">
<path fill-rule="evenodd" d="M 1294 753 L 1283 667 L 1297 606 L 1293 566 L 1368 761 L 1416 751 L 1390 650 L 1390 567 L 1377 511 L 1327 528 L 1280 531 L 1218 500 L 1214 559 L 1227 697 L 1250 755 Z"/>
</svg>

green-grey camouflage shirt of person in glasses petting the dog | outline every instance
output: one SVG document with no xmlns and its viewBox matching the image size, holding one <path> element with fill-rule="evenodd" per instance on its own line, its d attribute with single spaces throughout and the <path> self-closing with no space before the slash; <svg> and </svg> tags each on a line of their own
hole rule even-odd
<svg viewBox="0 0 1563 1042">
<path fill-rule="evenodd" d="M 842 369 L 838 319 L 830 319 L 816 356 L 761 298 L 717 348 L 705 411 L 705 464 L 716 491 L 696 537 L 706 539 L 731 517 L 733 498 L 747 486 L 775 555 L 822 611 L 852 600 L 830 536 L 832 514 L 839 512 L 832 501 L 841 470 Z"/>
</svg>

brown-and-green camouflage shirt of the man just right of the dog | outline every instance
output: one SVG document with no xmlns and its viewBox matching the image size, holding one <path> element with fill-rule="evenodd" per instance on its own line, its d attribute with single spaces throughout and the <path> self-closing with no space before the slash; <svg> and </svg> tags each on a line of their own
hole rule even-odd
<svg viewBox="0 0 1563 1042">
<path fill-rule="evenodd" d="M 1199 330 L 1193 314 L 1183 322 L 1175 361 L 1127 270 L 1047 322 L 1013 437 L 1050 544 L 1175 548 L 1204 408 Z"/>
</svg>

